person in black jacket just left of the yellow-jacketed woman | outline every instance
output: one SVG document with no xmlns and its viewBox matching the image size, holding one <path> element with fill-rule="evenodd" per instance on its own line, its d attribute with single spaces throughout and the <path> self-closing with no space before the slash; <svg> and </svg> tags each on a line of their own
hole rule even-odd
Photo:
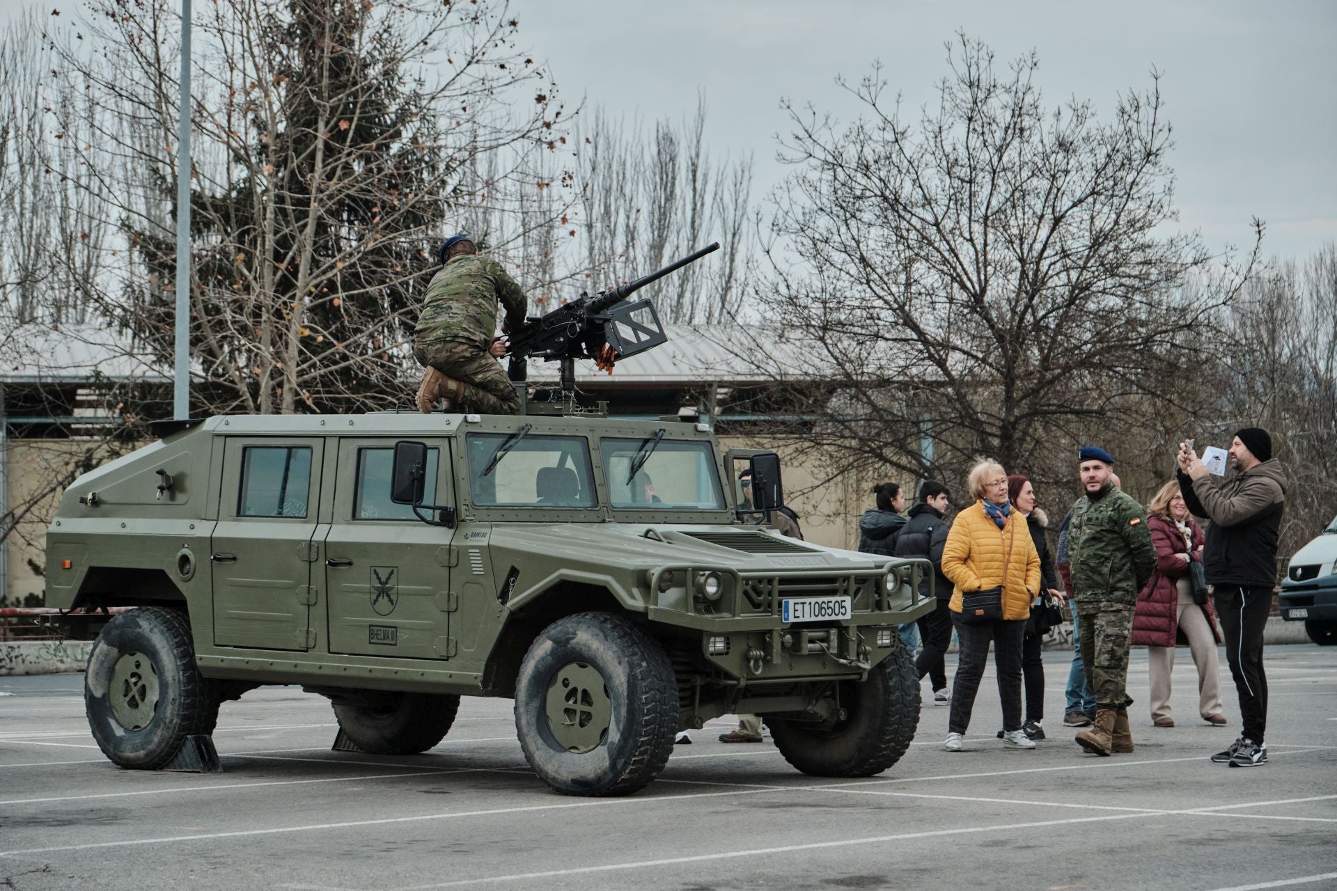
<svg viewBox="0 0 1337 891">
<path fill-rule="evenodd" d="M 924 675 L 929 676 L 933 703 L 937 705 L 947 705 L 951 699 L 947 695 L 947 667 L 943 659 L 952 643 L 952 610 L 947 606 L 952 600 L 952 582 L 943 574 L 943 546 L 952 525 L 947 522 L 947 509 L 951 502 L 947 486 L 937 480 L 925 480 L 920 486 L 919 500 L 910 508 L 909 520 L 896 536 L 893 554 L 927 557 L 933 562 L 933 594 L 937 602 L 933 612 L 919 618 L 924 649 L 915 659 L 915 668 L 919 669 L 921 680 Z M 924 578 L 921 593 L 928 596 L 928 588 L 929 580 Z"/>
</svg>

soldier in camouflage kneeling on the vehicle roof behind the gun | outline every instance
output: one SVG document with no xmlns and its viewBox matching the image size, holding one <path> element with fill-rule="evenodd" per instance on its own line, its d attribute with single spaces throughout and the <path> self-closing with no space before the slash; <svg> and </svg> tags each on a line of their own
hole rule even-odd
<svg viewBox="0 0 1337 891">
<path fill-rule="evenodd" d="M 413 358 L 427 366 L 417 405 L 429 414 L 445 397 L 447 410 L 517 414 L 520 397 L 496 357 L 497 301 L 505 330 L 524 323 L 528 301 L 495 259 L 479 256 L 473 239 L 452 235 L 439 251 L 441 271 L 432 277 L 422 315 L 413 331 Z"/>
</svg>

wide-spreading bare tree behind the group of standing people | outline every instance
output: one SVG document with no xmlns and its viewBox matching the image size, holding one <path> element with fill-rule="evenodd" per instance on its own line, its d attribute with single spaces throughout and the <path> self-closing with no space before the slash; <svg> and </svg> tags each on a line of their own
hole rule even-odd
<svg viewBox="0 0 1337 891">
<path fill-rule="evenodd" d="M 980 454 L 1067 478 L 1070 445 L 1183 403 L 1175 382 L 1257 256 L 1233 267 L 1173 232 L 1155 72 L 1102 122 L 1090 102 L 1046 108 L 1034 53 L 999 69 L 961 35 L 948 63 L 916 122 L 877 67 L 842 81 L 865 111 L 849 126 L 786 104 L 796 170 L 755 301 L 801 357 L 777 379 L 818 382 L 779 395 L 828 480 L 955 478 Z"/>
</svg>

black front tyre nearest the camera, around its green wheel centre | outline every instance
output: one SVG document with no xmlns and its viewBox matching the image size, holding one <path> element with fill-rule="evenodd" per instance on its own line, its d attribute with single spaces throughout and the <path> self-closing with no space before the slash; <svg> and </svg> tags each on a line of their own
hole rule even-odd
<svg viewBox="0 0 1337 891">
<path fill-rule="evenodd" d="M 590 751 L 568 751 L 548 717 L 550 688 L 568 669 L 596 671 L 610 717 Z M 515 727 L 529 767 L 563 795 L 628 795 L 668 761 L 678 729 L 678 687 L 658 641 L 620 616 L 576 613 L 548 625 L 520 664 Z"/>
</svg>

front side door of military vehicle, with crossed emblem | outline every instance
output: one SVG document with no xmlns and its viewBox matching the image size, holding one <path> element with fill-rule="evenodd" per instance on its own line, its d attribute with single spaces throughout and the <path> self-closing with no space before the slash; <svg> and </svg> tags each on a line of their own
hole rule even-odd
<svg viewBox="0 0 1337 891">
<path fill-rule="evenodd" d="M 421 442 L 428 446 L 424 504 L 453 506 L 451 441 Z M 393 439 L 340 439 L 325 538 L 330 652 L 449 659 L 457 645 L 448 568 L 455 530 L 390 501 L 393 464 Z"/>
</svg>

